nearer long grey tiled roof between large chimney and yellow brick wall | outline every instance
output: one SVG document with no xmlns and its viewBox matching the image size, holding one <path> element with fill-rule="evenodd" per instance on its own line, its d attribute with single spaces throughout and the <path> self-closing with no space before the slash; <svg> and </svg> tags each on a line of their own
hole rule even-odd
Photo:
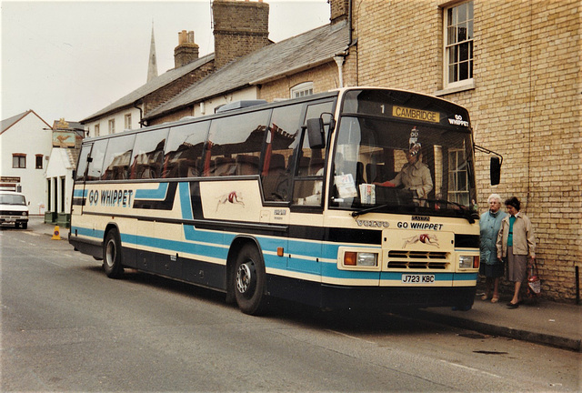
<svg viewBox="0 0 582 393">
<path fill-rule="evenodd" d="M 218 69 L 184 92 L 156 107 L 145 118 L 162 116 L 246 86 L 258 85 L 282 76 L 313 68 L 345 51 L 349 40 L 346 22 L 324 25 L 280 43 L 267 45 Z"/>
</svg>

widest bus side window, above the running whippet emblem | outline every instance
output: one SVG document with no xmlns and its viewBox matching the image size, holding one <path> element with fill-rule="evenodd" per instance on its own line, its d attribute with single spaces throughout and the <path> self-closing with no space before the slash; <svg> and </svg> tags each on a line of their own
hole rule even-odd
<svg viewBox="0 0 582 393">
<path fill-rule="evenodd" d="M 258 175 L 271 110 L 213 120 L 208 132 L 204 176 Z"/>
</svg>

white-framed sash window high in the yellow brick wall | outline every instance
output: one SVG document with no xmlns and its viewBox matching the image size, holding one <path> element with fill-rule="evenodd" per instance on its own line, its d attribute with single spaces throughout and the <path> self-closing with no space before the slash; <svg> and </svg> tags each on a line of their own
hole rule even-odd
<svg viewBox="0 0 582 393">
<path fill-rule="evenodd" d="M 473 1 L 445 8 L 445 87 L 473 80 Z"/>
</svg>

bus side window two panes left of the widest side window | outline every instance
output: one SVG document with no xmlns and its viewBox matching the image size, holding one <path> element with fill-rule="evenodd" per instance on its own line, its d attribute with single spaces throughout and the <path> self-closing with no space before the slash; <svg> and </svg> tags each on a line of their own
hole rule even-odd
<svg viewBox="0 0 582 393">
<path fill-rule="evenodd" d="M 167 128 L 162 128 L 137 134 L 129 178 L 146 179 L 162 176 L 167 133 Z"/>
</svg>

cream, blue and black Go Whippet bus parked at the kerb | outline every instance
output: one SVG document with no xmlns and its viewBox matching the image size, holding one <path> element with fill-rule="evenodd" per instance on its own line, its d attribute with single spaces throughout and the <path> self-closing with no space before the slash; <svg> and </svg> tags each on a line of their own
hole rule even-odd
<svg viewBox="0 0 582 393">
<path fill-rule="evenodd" d="M 467 308 L 473 155 L 463 107 L 363 87 L 86 139 L 69 242 L 109 277 L 211 287 L 247 314 Z"/>
</svg>

